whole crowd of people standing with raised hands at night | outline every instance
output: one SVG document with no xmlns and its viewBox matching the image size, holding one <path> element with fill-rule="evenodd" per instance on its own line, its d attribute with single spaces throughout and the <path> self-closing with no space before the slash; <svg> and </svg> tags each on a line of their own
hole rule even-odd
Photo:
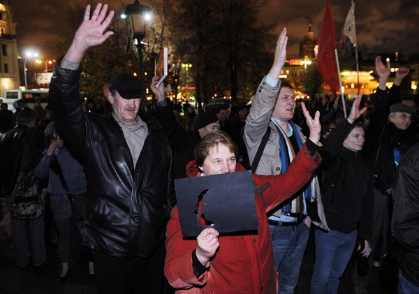
<svg viewBox="0 0 419 294">
<path fill-rule="evenodd" d="M 390 62 L 376 57 L 374 103 L 362 103 L 360 94 L 346 101 L 347 116 L 335 95 L 306 106 L 279 80 L 284 29 L 250 108 L 196 115 L 188 107 L 182 116 L 155 76 L 156 109 L 149 113 L 140 109 L 142 80 L 119 73 L 103 87 L 111 110 L 103 114 L 91 98 L 80 105 L 79 79 L 87 50 L 112 36 L 113 16 L 106 4 L 87 6 L 56 61 L 48 115 L 38 124 L 24 105 L 16 115 L 2 105 L 1 193 L 12 212 L 20 175 L 39 190 L 37 201 L 57 228 L 59 283 L 68 274 L 74 227 L 100 294 L 295 293 L 314 231 L 311 293 L 337 293 L 353 254 L 383 267 L 383 256 L 396 247 L 397 291 L 419 293 L 418 120 L 415 101 L 399 89 L 409 68 L 399 68 L 388 89 Z M 246 170 L 257 230 L 220 233 L 204 220 L 198 235 L 184 237 L 175 179 Z M 17 265 L 42 266 L 45 215 L 11 214 Z"/>
</svg>

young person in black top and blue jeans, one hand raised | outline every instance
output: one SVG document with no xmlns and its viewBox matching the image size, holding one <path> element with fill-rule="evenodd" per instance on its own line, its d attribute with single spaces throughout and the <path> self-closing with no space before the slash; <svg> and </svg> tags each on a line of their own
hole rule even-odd
<svg viewBox="0 0 419 294">
<path fill-rule="evenodd" d="M 315 231 L 311 294 L 337 293 L 357 237 L 362 256 L 371 253 L 368 240 L 372 235 L 374 183 L 372 171 L 360 156 L 365 131 L 361 124 L 354 123 L 367 110 L 358 110 L 361 98 L 362 94 L 355 99 L 348 119 L 323 141 L 321 191 L 330 230 Z"/>
</svg>

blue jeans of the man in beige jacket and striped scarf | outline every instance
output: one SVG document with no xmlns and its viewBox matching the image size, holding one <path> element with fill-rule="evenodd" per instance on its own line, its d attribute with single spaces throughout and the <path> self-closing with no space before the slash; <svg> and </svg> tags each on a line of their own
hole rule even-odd
<svg viewBox="0 0 419 294">
<path fill-rule="evenodd" d="M 270 226 L 270 232 L 274 249 L 274 269 L 279 274 L 278 293 L 293 294 L 300 276 L 310 228 L 303 221 L 297 226 Z"/>
</svg>

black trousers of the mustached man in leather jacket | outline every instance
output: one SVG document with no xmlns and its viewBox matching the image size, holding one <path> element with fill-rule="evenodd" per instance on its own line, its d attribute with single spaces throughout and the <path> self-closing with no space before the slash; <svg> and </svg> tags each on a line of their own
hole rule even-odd
<svg viewBox="0 0 419 294">
<path fill-rule="evenodd" d="M 94 250 L 94 271 L 98 294 L 161 294 L 164 277 L 164 243 L 149 258 L 114 257 Z"/>
</svg>

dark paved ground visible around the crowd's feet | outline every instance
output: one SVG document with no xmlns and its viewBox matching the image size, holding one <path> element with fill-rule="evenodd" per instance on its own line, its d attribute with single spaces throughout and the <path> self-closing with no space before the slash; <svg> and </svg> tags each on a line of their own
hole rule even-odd
<svg viewBox="0 0 419 294">
<path fill-rule="evenodd" d="M 4 198 L 0 198 L 0 221 L 6 213 Z M 87 262 L 79 258 L 77 251 L 71 254 L 71 269 L 65 284 L 57 284 L 56 281 L 60 270 L 56 247 L 48 248 L 47 252 L 50 263 L 41 268 L 20 270 L 15 265 L 15 253 L 10 240 L 10 221 L 6 222 L 6 225 L 0 228 L 0 294 L 96 294 L 94 281 L 88 279 Z M 314 240 L 311 237 L 295 294 L 309 294 L 313 264 Z M 373 270 L 373 280 L 376 279 L 376 274 L 376 270 Z M 354 260 L 351 260 L 341 279 L 339 294 L 386 294 L 378 284 L 372 284 L 368 288 L 369 291 L 367 278 L 357 277 Z"/>
</svg>

